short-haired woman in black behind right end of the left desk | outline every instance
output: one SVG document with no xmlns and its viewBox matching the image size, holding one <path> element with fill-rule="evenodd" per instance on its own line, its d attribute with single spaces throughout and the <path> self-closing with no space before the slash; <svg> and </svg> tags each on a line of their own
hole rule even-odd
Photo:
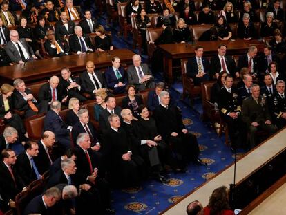
<svg viewBox="0 0 286 215">
<path fill-rule="evenodd" d="M 97 26 L 95 28 L 95 48 L 99 52 L 103 52 L 105 50 L 113 50 L 113 45 L 111 41 L 111 35 L 106 35 L 104 27 L 102 25 Z"/>
</svg>

